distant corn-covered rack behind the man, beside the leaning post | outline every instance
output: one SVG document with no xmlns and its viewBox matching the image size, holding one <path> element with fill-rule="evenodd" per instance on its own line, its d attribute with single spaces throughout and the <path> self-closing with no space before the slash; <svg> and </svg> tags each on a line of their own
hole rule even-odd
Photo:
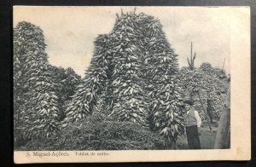
<svg viewBox="0 0 256 167">
<path fill-rule="evenodd" d="M 213 68 L 209 63 L 202 63 L 200 68 L 195 68 L 193 71 L 189 67 L 183 67 L 179 79 L 184 95 L 194 101 L 194 107 L 200 112 L 202 118 L 207 118 L 207 116 L 202 111 L 196 91 L 200 92 L 203 107 L 208 109 L 213 118 L 219 117 L 229 87 L 224 71 Z"/>
</svg>

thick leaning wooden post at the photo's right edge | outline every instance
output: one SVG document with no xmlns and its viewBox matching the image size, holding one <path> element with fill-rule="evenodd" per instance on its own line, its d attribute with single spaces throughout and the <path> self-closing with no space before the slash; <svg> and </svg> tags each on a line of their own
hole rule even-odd
<svg viewBox="0 0 256 167">
<path fill-rule="evenodd" d="M 218 122 L 214 149 L 230 148 L 230 88 Z"/>
</svg>

